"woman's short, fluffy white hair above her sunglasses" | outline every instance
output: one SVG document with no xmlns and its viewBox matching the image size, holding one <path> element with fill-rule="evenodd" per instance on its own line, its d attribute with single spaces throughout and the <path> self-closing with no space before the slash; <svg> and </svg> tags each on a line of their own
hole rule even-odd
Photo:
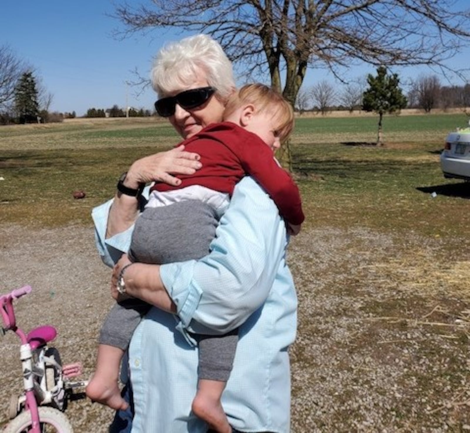
<svg viewBox="0 0 470 433">
<path fill-rule="evenodd" d="M 222 101 L 235 89 L 232 62 L 210 36 L 196 35 L 165 45 L 155 57 L 151 71 L 152 87 L 160 98 L 191 85 L 197 79 L 207 80 L 216 88 Z"/>
</svg>

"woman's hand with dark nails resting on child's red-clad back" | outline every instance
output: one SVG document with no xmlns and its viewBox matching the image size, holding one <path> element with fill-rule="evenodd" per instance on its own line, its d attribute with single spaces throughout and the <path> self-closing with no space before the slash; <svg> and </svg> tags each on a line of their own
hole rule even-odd
<svg viewBox="0 0 470 433">
<path fill-rule="evenodd" d="M 137 188 L 139 183 L 157 181 L 178 186 L 181 181 L 172 174 L 194 174 L 202 167 L 199 158 L 200 156 L 194 152 L 186 152 L 184 145 L 166 152 L 145 156 L 131 165 L 127 171 L 125 185 L 129 188 Z"/>
</svg>

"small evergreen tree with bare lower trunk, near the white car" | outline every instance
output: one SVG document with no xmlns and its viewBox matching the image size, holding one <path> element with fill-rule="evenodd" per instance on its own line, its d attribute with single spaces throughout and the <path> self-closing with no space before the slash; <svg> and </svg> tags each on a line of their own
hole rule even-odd
<svg viewBox="0 0 470 433">
<path fill-rule="evenodd" d="M 377 146 L 384 144 L 382 132 L 382 118 L 384 113 L 394 113 L 407 106 L 407 98 L 399 88 L 397 74 L 387 75 L 387 68 L 379 66 L 377 76 L 369 74 L 367 82 L 369 88 L 362 95 L 362 109 L 374 111 L 379 115 Z"/>
</svg>

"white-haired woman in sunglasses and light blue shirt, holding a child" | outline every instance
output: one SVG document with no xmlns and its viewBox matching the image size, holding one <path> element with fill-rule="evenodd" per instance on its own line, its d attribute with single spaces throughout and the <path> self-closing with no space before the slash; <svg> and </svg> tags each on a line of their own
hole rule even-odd
<svg viewBox="0 0 470 433">
<path fill-rule="evenodd" d="M 235 88 L 227 56 L 204 35 L 162 49 L 152 82 L 159 97 L 167 98 L 169 120 L 185 139 L 221 121 Z M 198 90 L 206 87 L 216 92 Z M 127 294 L 156 307 L 141 321 L 129 346 L 132 430 L 206 432 L 207 425 L 191 412 L 198 364 L 193 333 L 218 335 L 240 327 L 222 396 L 229 423 L 240 432 L 288 432 L 287 349 L 296 333 L 297 298 L 285 263 L 285 224 L 253 179 L 244 178 L 235 187 L 209 255 L 165 265 L 135 263 L 121 275 L 130 262 L 126 255 L 119 257 L 128 251 L 141 211 L 142 186 L 153 181 L 176 185 L 172 174 L 198 168 L 197 155 L 181 148 L 142 158 L 121 177 L 114 200 L 93 211 L 103 261 L 116 263 L 113 290 L 122 277 Z M 121 431 L 129 431 L 129 425 Z"/>
</svg>

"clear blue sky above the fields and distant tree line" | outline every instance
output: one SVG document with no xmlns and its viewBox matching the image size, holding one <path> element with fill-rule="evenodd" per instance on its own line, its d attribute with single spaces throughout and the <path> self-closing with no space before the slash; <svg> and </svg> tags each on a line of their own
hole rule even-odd
<svg viewBox="0 0 470 433">
<path fill-rule="evenodd" d="M 468 8 L 468 0 L 459 0 L 457 6 Z M 153 37 L 134 35 L 116 40 L 111 32 L 119 23 L 106 15 L 113 10 L 110 0 L 2 2 L 0 45 L 7 44 L 35 68 L 47 91 L 54 95 L 51 111 L 75 110 L 81 116 L 87 108 L 110 108 L 114 104 L 124 108 L 126 103 L 152 109 L 156 95 L 151 89 L 137 99 L 135 89 L 125 83 L 133 79 L 135 68 L 147 77 L 160 46 L 182 36 L 162 32 Z M 469 59 L 470 47 L 453 62 L 465 62 L 469 67 Z M 364 66 L 347 72 L 349 78 L 356 78 L 374 69 Z M 420 72 L 433 73 L 426 68 L 394 72 L 400 74 L 402 82 Z M 310 70 L 304 85 L 327 76 L 327 71 Z"/>
</svg>

